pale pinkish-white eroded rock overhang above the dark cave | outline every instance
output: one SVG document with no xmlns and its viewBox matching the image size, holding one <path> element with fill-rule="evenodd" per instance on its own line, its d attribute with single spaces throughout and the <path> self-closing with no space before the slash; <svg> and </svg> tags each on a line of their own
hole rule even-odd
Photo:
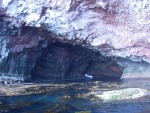
<svg viewBox="0 0 150 113">
<path fill-rule="evenodd" d="M 17 27 L 42 27 L 107 56 L 149 62 L 148 0 L 1 0 L 1 10 Z"/>
</svg>

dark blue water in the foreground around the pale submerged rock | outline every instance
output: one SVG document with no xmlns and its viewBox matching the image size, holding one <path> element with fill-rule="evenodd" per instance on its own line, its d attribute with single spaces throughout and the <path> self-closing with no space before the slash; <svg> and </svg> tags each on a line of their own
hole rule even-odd
<svg viewBox="0 0 150 113">
<path fill-rule="evenodd" d="M 72 84 L 72 83 L 65 83 Z M 42 94 L 0 97 L 0 113 L 150 113 L 147 97 L 103 102 L 87 96 L 89 92 L 122 88 L 150 89 L 150 80 L 75 82 L 73 85 Z M 81 112 L 82 113 L 82 112 Z"/>
</svg>

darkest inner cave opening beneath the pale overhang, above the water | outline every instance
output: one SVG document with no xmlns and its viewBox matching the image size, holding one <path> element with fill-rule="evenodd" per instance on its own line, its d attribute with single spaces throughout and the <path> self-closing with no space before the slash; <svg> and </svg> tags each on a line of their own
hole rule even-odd
<svg viewBox="0 0 150 113">
<path fill-rule="evenodd" d="M 31 80 L 84 79 L 85 74 L 94 78 L 120 78 L 122 68 L 99 52 L 56 41 L 42 50 L 31 71 Z"/>
</svg>

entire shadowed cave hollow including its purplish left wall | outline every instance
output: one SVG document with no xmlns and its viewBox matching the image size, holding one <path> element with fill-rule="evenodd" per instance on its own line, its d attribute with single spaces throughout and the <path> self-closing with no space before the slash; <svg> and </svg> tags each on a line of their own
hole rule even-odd
<svg viewBox="0 0 150 113">
<path fill-rule="evenodd" d="M 9 26 L 10 23 L 4 24 Z M 8 37 L 3 41 L 8 41 L 1 47 L 8 51 L 0 62 L 2 79 L 35 82 L 84 80 L 85 74 L 97 80 L 122 76 L 124 68 L 115 59 L 75 41 L 56 39 L 56 34 L 45 29 L 22 26 L 7 29 L 6 33 Z"/>
</svg>

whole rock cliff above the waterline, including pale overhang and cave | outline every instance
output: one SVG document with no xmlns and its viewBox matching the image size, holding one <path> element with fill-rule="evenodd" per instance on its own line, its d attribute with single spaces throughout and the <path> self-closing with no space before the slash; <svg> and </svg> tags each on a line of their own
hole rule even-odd
<svg viewBox="0 0 150 113">
<path fill-rule="evenodd" d="M 148 0 L 0 0 L 1 77 L 149 77 L 149 11 Z"/>
</svg>

